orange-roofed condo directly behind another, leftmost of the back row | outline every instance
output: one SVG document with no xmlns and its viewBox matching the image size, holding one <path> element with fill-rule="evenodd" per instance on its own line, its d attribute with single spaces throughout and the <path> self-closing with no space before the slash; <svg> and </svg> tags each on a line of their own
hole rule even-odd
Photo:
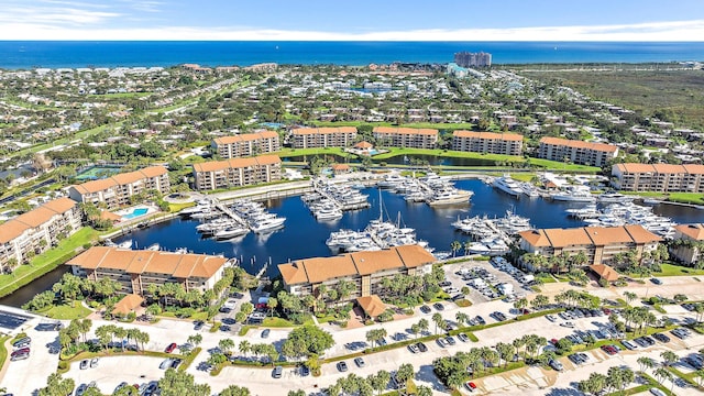
<svg viewBox="0 0 704 396">
<path fill-rule="evenodd" d="M 217 138 L 212 140 L 210 146 L 212 152 L 221 158 L 238 158 L 280 150 L 278 133 L 273 131 Z"/>
</svg>

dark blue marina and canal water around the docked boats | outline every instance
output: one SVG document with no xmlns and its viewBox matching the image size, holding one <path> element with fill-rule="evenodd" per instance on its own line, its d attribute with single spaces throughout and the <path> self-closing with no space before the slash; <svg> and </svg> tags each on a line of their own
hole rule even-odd
<svg viewBox="0 0 704 396">
<path fill-rule="evenodd" d="M 413 227 L 419 239 L 429 242 L 436 251 L 449 251 L 453 241 L 464 242 L 468 235 L 455 231 L 450 224 L 458 217 L 487 216 L 503 217 L 506 211 L 530 218 L 535 228 L 573 228 L 584 223 L 570 219 L 564 210 L 583 207 L 585 204 L 554 202 L 541 198 L 520 199 L 501 193 L 479 179 L 459 180 L 455 186 L 474 191 L 468 205 L 455 205 L 443 208 L 431 208 L 426 204 L 406 202 L 400 195 L 366 188 L 362 191 L 370 196 L 371 208 L 345 212 L 342 219 L 332 222 L 317 221 L 300 197 L 288 197 L 266 201 L 271 212 L 286 218 L 285 228 L 273 233 L 258 235 L 249 233 L 230 241 L 215 241 L 204 239 L 196 231 L 197 220 L 176 218 L 155 224 L 148 229 L 136 230 L 116 242 L 133 241 L 133 249 L 144 249 L 158 243 L 162 249 L 175 251 L 186 248 L 195 253 L 223 254 L 237 257 L 249 273 L 257 273 L 263 265 L 271 263 L 267 275 L 278 275 L 277 264 L 289 260 L 305 257 L 330 256 L 337 254 L 326 245 L 330 232 L 339 229 L 362 230 L 372 219 L 380 217 L 380 202 L 384 219 L 400 221 L 402 226 Z M 673 206 L 658 205 L 653 210 L 657 215 L 668 216 L 679 223 L 704 222 L 704 210 Z M 54 271 L 15 294 L 0 299 L 0 304 L 21 306 L 32 296 L 51 288 L 58 280 L 65 268 Z"/>
</svg>

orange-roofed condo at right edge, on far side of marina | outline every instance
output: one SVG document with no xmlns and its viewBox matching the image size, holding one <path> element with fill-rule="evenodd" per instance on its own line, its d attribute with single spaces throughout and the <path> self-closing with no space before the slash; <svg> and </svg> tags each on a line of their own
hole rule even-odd
<svg viewBox="0 0 704 396">
<path fill-rule="evenodd" d="M 612 185 L 628 191 L 704 193 L 704 165 L 615 164 Z"/>
</svg>

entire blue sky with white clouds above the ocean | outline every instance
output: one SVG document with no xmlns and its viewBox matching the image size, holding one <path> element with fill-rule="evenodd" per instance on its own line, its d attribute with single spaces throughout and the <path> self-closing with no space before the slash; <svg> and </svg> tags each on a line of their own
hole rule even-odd
<svg viewBox="0 0 704 396">
<path fill-rule="evenodd" d="M 704 41 L 704 0 L 3 0 L 0 40 Z"/>
</svg>

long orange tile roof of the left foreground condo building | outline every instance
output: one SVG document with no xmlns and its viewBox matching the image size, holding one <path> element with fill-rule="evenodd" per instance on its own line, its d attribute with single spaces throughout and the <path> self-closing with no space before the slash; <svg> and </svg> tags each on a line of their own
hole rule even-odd
<svg viewBox="0 0 704 396">
<path fill-rule="evenodd" d="M 77 265 L 92 270 L 120 270 L 130 274 L 164 274 L 177 278 L 209 278 L 227 261 L 224 257 L 205 254 L 177 254 L 94 246 L 66 262 L 66 265 Z"/>
</svg>

